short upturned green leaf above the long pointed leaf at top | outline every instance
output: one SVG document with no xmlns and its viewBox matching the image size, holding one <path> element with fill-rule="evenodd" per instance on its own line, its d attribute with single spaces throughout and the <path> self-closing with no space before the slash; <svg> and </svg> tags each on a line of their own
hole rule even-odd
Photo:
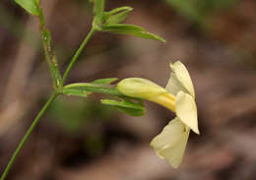
<svg viewBox="0 0 256 180">
<path fill-rule="evenodd" d="M 110 12 L 106 12 L 104 14 L 104 25 L 118 24 L 123 22 L 132 10 L 133 9 L 131 7 L 124 6 L 113 9 Z"/>
</svg>

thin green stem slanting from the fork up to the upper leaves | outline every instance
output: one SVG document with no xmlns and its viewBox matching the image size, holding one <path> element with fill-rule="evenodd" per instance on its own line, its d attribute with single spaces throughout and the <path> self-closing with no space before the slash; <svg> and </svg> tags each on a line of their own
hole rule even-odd
<svg viewBox="0 0 256 180">
<path fill-rule="evenodd" d="M 71 62 L 69 63 L 64 75 L 63 75 L 63 79 L 62 79 L 62 82 L 61 82 L 61 87 L 63 87 L 67 77 L 68 77 L 68 74 L 70 72 L 70 70 L 72 69 L 73 65 L 75 64 L 75 62 L 77 61 L 79 55 L 81 54 L 81 52 L 83 51 L 83 49 L 85 48 L 85 46 L 87 45 L 88 41 L 90 40 L 90 38 L 93 36 L 93 34 L 95 33 L 96 29 L 93 27 L 88 35 L 86 36 L 86 38 L 83 40 L 82 44 L 80 45 L 80 47 L 78 48 L 78 50 L 76 51 L 75 55 L 73 56 Z"/>
</svg>

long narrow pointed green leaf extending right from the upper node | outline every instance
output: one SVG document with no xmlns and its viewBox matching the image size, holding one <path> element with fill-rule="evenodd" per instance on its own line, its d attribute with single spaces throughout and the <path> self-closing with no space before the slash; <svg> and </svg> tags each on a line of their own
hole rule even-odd
<svg viewBox="0 0 256 180">
<path fill-rule="evenodd" d="M 126 24 L 103 25 L 101 30 L 112 32 L 112 33 L 129 34 L 129 35 L 139 36 L 143 38 L 158 39 L 161 42 L 165 42 L 165 40 L 159 35 L 151 33 L 147 30 L 144 30 L 141 27 L 134 26 L 134 25 L 126 25 Z"/>
</svg>

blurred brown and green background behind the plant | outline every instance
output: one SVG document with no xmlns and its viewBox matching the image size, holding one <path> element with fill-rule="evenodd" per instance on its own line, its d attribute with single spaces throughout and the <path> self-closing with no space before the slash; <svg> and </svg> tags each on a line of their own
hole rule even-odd
<svg viewBox="0 0 256 180">
<path fill-rule="evenodd" d="M 41 0 L 62 72 L 90 30 L 87 0 Z M 191 134 L 177 170 L 149 147 L 172 118 L 147 102 L 130 117 L 87 99 L 59 96 L 41 118 L 7 179 L 256 179 L 256 1 L 106 0 L 134 8 L 126 23 L 157 40 L 96 32 L 69 83 L 142 77 L 165 86 L 182 61 L 196 89 L 201 136 Z M 51 89 L 38 22 L 14 1 L 0 2 L 0 172 Z"/>
</svg>

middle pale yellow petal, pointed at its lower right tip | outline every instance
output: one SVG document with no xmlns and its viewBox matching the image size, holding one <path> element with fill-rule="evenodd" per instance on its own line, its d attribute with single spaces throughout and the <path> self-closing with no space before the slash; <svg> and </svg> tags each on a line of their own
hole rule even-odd
<svg viewBox="0 0 256 180">
<path fill-rule="evenodd" d="M 194 98 L 183 91 L 179 91 L 175 99 L 176 115 L 195 133 L 199 134 L 197 120 L 197 106 Z"/>
</svg>

